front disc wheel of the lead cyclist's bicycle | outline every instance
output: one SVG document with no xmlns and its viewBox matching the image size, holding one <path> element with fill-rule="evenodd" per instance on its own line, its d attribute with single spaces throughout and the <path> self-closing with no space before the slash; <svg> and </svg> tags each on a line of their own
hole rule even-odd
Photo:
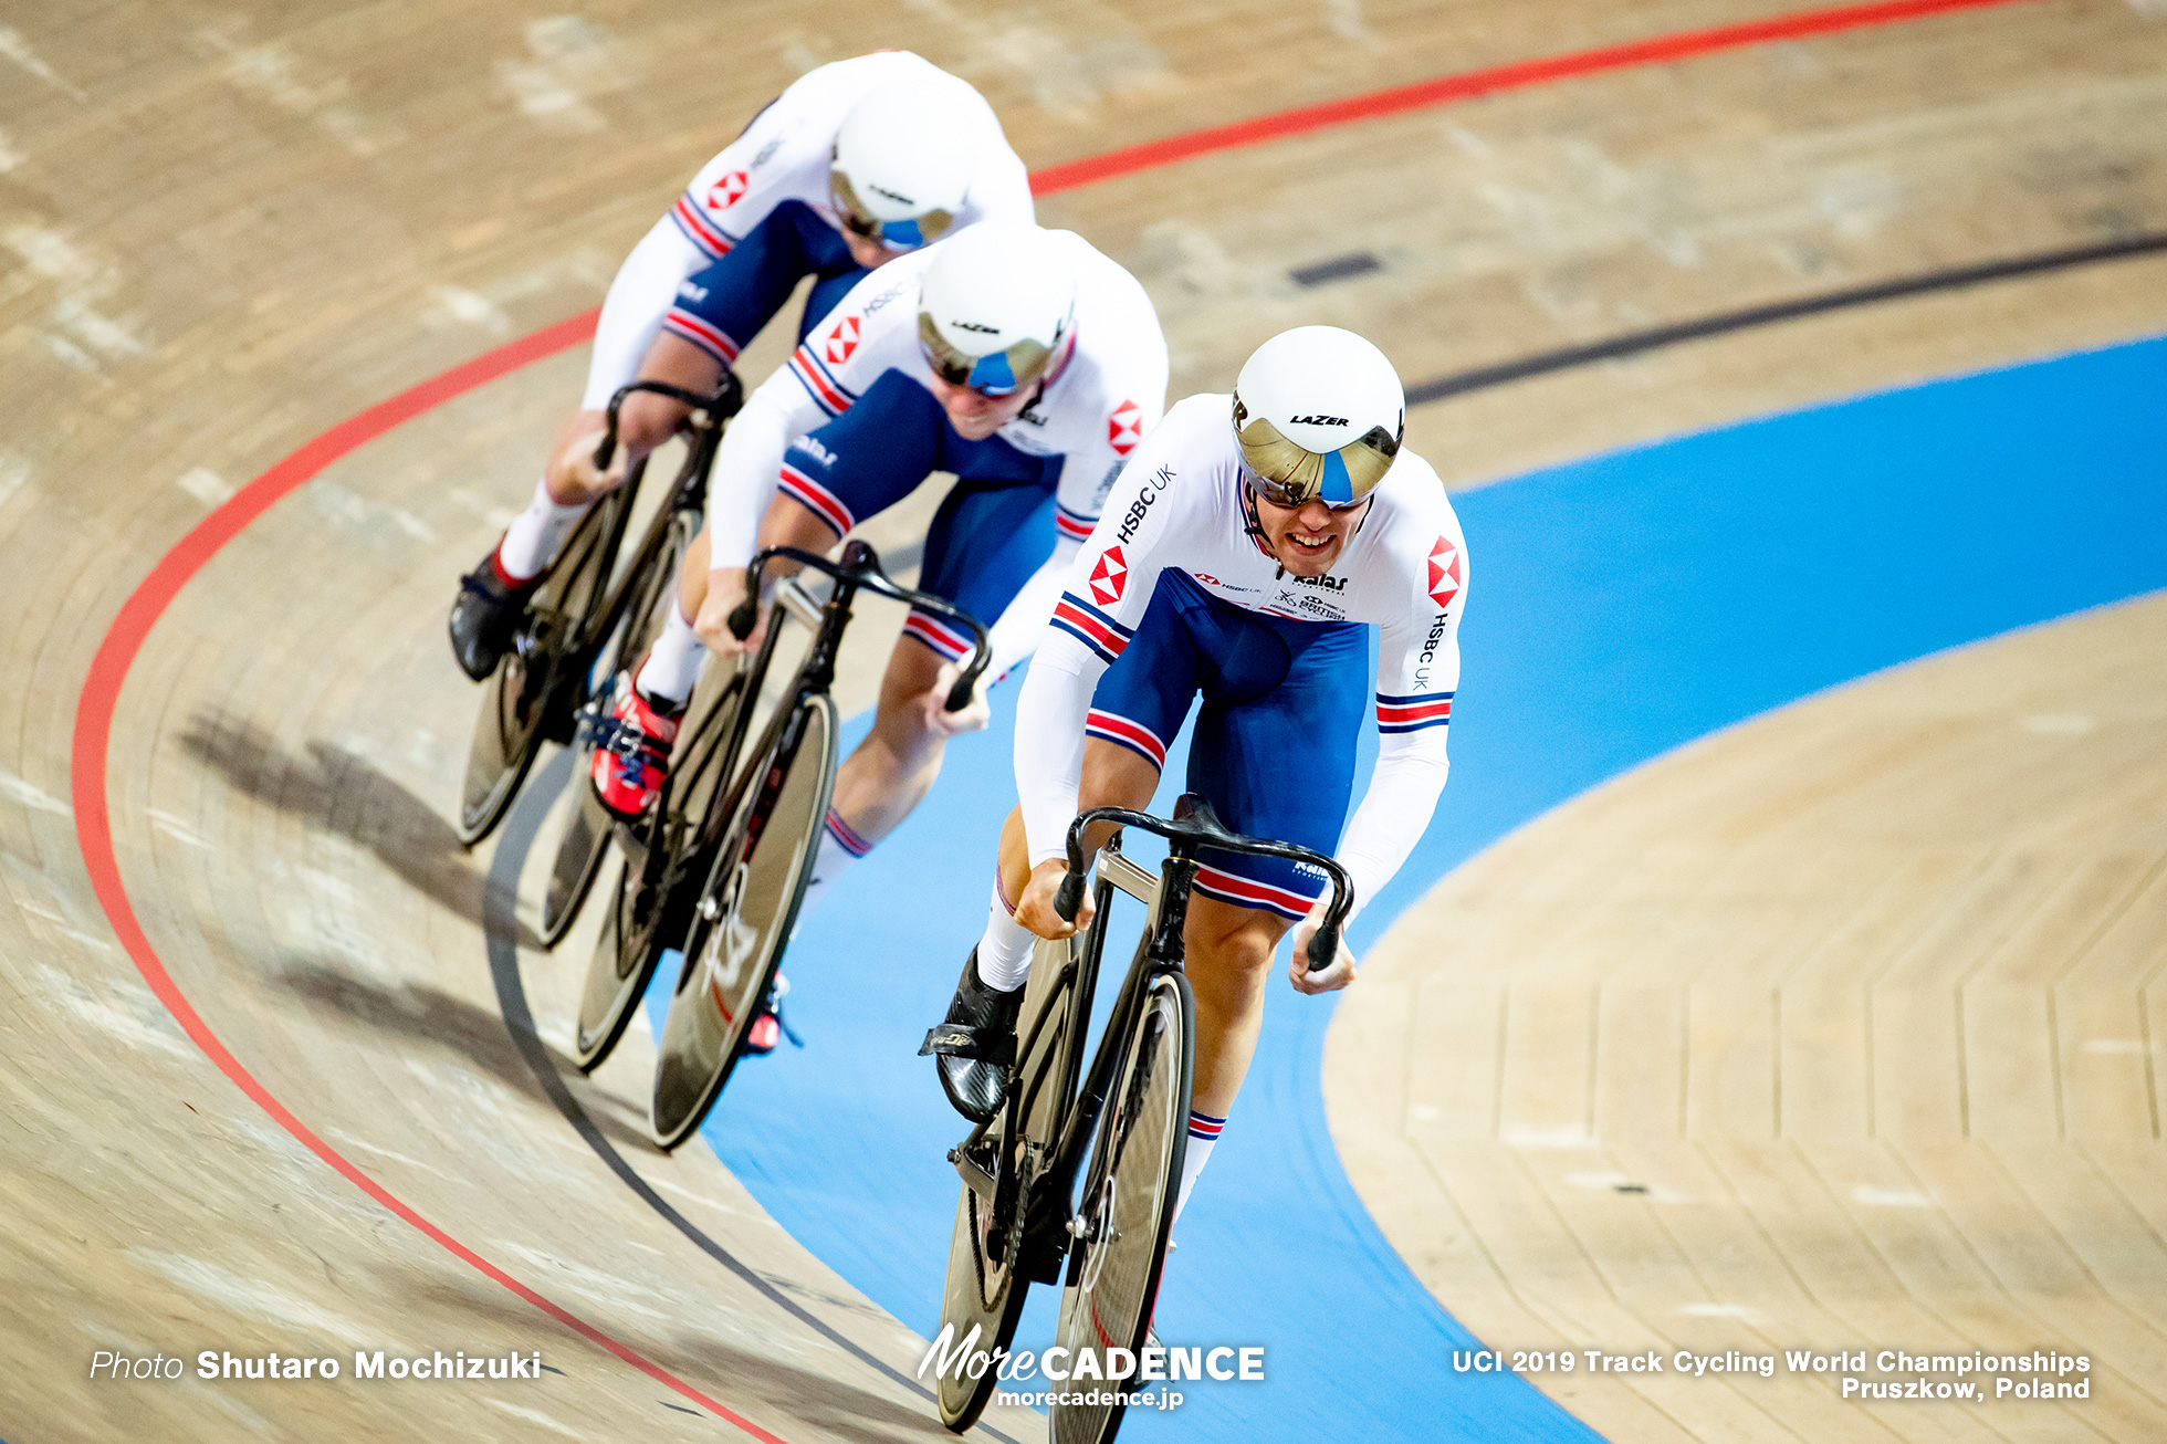
<svg viewBox="0 0 2167 1444">
<path fill-rule="evenodd" d="M 1127 1349 L 1136 1355 L 1151 1329 L 1175 1219 L 1181 1156 L 1188 1143 L 1190 1069 L 1196 1049 L 1194 1000 L 1181 974 L 1159 974 L 1129 1034 L 1127 1056 L 1099 1114 L 1077 1219 L 1084 1234 L 1068 1262 L 1057 1342 L 1070 1349 Z M 1133 1383 L 1133 1377 L 1129 1379 Z M 1127 1392 L 1107 1381 L 1097 1392 Z M 1053 1444 L 1107 1444 L 1123 1405 L 1055 1405 Z"/>
</svg>

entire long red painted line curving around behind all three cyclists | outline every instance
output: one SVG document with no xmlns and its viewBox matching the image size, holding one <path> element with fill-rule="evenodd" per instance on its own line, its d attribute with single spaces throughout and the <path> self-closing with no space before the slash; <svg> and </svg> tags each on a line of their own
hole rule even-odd
<svg viewBox="0 0 2167 1444">
<path fill-rule="evenodd" d="M 1131 145 L 1127 150 L 1107 152 L 1103 156 L 1088 156 L 1084 160 L 1070 160 L 1066 165 L 1053 165 L 1042 171 L 1031 173 L 1031 191 L 1036 195 L 1053 195 L 1057 191 L 1073 191 L 1099 180 L 1112 180 L 1116 176 L 1131 176 L 1136 171 L 1153 169 L 1159 165 L 1172 165 L 1177 160 L 1188 160 L 1194 156 L 1214 154 L 1220 150 L 1235 150 L 1244 145 L 1261 145 L 1266 141 L 1276 141 L 1292 134 L 1307 134 L 1311 130 L 1326 130 L 1331 126 L 1346 126 L 1363 119 L 1376 119 L 1383 115 L 1398 115 L 1402 111 L 1415 111 L 1422 106 L 1437 106 L 1452 100 L 1467 100 L 1474 95 L 1489 95 L 1495 91 L 1523 89 L 1530 85 L 1543 85 L 1547 80 L 1565 80 L 1573 76 L 1588 76 L 1610 69 L 1627 69 L 1634 65 L 1656 65 L 1662 61 L 1682 61 L 1697 54 L 1710 54 L 1718 50 L 1736 50 L 1742 46 L 1757 46 L 1777 39 L 1801 39 L 1809 35 L 1833 35 L 1838 30 L 1859 30 L 1868 26 L 1898 24 L 1905 20 L 1922 20 L 1929 15 L 1942 15 L 1952 11 L 1976 11 L 1998 4 L 2017 4 L 2020 0 L 1881 0 L 1877 4 L 1851 4 L 1829 11 L 1805 11 L 1796 15 L 1775 15 L 1770 20 L 1757 20 L 1736 26 L 1718 26 L 1712 30 L 1688 30 L 1682 35 L 1660 35 L 1645 41 L 1630 41 L 1623 46 L 1606 46 L 1599 50 L 1580 50 L 1573 54 L 1547 56 L 1536 61 L 1517 61 L 1510 65 L 1495 65 L 1489 69 L 1465 72 L 1458 76 L 1441 76 L 1437 80 L 1424 80 L 1419 85 L 1406 85 L 1391 91 L 1374 91 L 1370 95 L 1352 95 L 1348 100 L 1333 100 L 1315 106 L 1302 106 L 1296 111 L 1281 111 L 1276 115 L 1259 115 L 1255 119 L 1235 121 L 1231 126 L 1216 126 L 1211 130 L 1194 130 L 1190 134 L 1168 137 L 1164 141 L 1149 141 L 1144 145 Z M 663 1388 L 698 1403 L 702 1409 L 724 1418 L 763 1444 L 782 1444 L 774 1433 L 761 1429 L 752 1420 L 726 1409 L 717 1401 L 709 1398 L 700 1390 L 691 1388 L 663 1366 L 646 1359 L 633 1349 L 609 1338 L 594 1325 L 574 1316 L 572 1312 L 550 1303 L 535 1290 L 527 1288 L 509 1273 L 481 1258 L 457 1238 L 440 1229 L 438 1225 L 423 1219 L 414 1208 L 392 1195 L 388 1188 L 377 1184 L 373 1177 L 362 1173 L 353 1162 L 349 1162 L 338 1149 L 319 1138 L 301 1119 L 286 1110 L 277 1097 L 264 1088 L 249 1069 L 234 1058 L 234 1054 L 219 1041 L 219 1034 L 202 1019 L 195 1006 L 189 1002 L 186 993 L 167 974 L 165 963 L 152 947 L 150 937 L 143 932 L 143 924 L 137 919 L 134 904 L 128 898 L 128 887 L 121 880 L 119 856 L 113 848 L 113 817 L 106 796 L 106 768 L 113 744 L 113 713 L 119 707 L 121 685 L 128 679 L 128 668 L 141 655 L 143 644 L 150 640 L 152 627 L 165 616 L 165 609 L 180 596 L 180 590 L 241 531 L 262 516 L 282 497 L 306 484 L 310 477 L 319 475 L 332 462 L 349 455 L 362 444 L 405 425 L 414 416 L 420 416 L 446 401 L 462 397 L 488 382 L 509 375 L 531 362 L 566 351 L 589 336 L 594 336 L 594 323 L 600 312 L 589 310 L 585 314 L 548 325 L 531 336 L 522 336 L 509 345 L 496 347 L 470 362 L 453 366 L 440 375 L 401 390 L 388 401 L 349 416 L 329 431 L 323 431 L 301 449 L 282 457 L 275 466 L 264 470 L 260 477 L 241 488 L 232 499 L 219 505 L 210 516 L 197 523 L 186 536 L 182 536 L 171 551 L 167 551 L 150 575 L 137 583 L 137 590 L 128 594 L 121 603 L 119 614 L 106 629 L 104 640 L 98 644 L 98 653 L 91 657 L 89 676 L 82 683 L 82 696 L 76 705 L 76 733 L 69 755 L 69 791 L 76 809 L 76 843 L 82 850 L 82 865 L 91 878 L 91 889 L 98 895 L 98 904 L 104 908 L 106 919 L 113 924 L 113 932 L 121 947 L 134 960 L 137 971 L 150 984 L 158 1002 L 165 1004 L 167 1013 L 186 1030 L 204 1056 L 210 1058 L 221 1073 L 225 1073 L 234 1086 L 238 1086 L 247 1097 L 256 1101 L 271 1119 L 293 1134 L 301 1145 L 306 1145 L 316 1158 L 329 1164 L 355 1188 L 366 1192 L 371 1199 L 388 1208 L 392 1214 L 414 1225 L 429 1240 L 440 1245 L 453 1258 L 472 1266 L 492 1281 L 505 1286 L 540 1312 L 548 1314 L 563 1327 L 572 1329 L 581 1338 L 607 1349 L 615 1357 L 624 1359 L 639 1372 L 648 1375 Z"/>
</svg>

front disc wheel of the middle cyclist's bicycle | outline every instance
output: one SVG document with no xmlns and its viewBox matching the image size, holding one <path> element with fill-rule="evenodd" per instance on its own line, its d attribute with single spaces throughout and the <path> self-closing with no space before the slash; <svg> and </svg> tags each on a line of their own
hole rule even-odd
<svg viewBox="0 0 2167 1444">
<path fill-rule="evenodd" d="M 663 1149 L 698 1132 L 730 1082 L 745 1028 L 789 947 L 834 791 L 834 731 L 832 698 L 800 698 L 774 750 L 745 774 L 752 785 L 722 835 L 722 861 L 702 889 L 685 939 L 687 967 L 663 1019 L 650 1106 Z"/>
</svg>

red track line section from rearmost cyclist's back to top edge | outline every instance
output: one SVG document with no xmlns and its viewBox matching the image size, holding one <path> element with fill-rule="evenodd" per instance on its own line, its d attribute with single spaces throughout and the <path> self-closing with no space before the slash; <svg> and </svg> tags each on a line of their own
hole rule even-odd
<svg viewBox="0 0 2167 1444">
<path fill-rule="evenodd" d="M 1099 180 L 1172 165 L 1175 160 L 1209 156 L 1220 150 L 1261 145 L 1266 141 L 1281 141 L 1289 134 L 1328 130 L 1333 126 L 1348 126 L 1354 121 L 1376 119 L 1380 115 L 1439 106 L 1452 100 L 1517 91 L 1530 85 L 1545 85 L 1549 80 L 1569 80 L 1573 76 L 1595 76 L 1606 69 L 1632 69 L 1634 65 L 1686 61 L 1699 54 L 1764 46 L 1779 39 L 1866 30 L 1872 26 L 1900 24 L 1905 20 L 1924 20 L 1929 15 L 1948 15 L 1955 11 L 1983 11 L 1996 4 L 2020 2 L 2026 0 L 1879 0 L 1877 4 L 1844 4 L 1831 11 L 1770 15 L 1768 20 L 1749 20 L 1744 24 L 1716 26 L 1712 30 L 1682 30 L 1677 35 L 1656 35 L 1643 41 L 1625 41 L 1623 46 L 1604 46 L 1599 50 L 1575 50 L 1571 54 L 1554 54 L 1534 61 L 1513 61 L 1510 65 L 1491 65 L 1489 69 L 1439 76 L 1437 80 L 1402 85 L 1391 91 L 1372 91 L 1367 95 L 1326 100 L 1324 104 L 1300 106 L 1296 111 L 1259 115 L 1255 119 L 1233 121 L 1231 126 L 1214 126 L 1211 130 L 1172 134 L 1164 141 L 1144 141 L 1142 145 L 1110 150 L 1103 156 L 1086 156 L 1084 160 L 1070 160 L 1066 165 L 1049 165 L 1042 171 L 1031 171 L 1031 193 L 1053 195 L 1057 191 L 1073 191 L 1075 186 L 1088 186 Z"/>
</svg>

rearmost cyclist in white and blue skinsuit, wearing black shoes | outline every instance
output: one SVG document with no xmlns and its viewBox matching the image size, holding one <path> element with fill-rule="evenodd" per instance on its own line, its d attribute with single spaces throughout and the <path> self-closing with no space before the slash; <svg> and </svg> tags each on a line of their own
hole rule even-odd
<svg viewBox="0 0 2167 1444">
<path fill-rule="evenodd" d="M 667 332 L 730 364 L 806 275 L 800 340 L 871 269 L 986 219 L 1031 219 L 1001 121 L 969 82 L 906 50 L 802 76 L 709 160 L 633 249 L 602 304 L 587 395 L 533 501 L 468 577 L 451 646 L 477 681 L 496 670 L 563 538 L 620 473 L 579 466 L 602 408 Z"/>
</svg>

